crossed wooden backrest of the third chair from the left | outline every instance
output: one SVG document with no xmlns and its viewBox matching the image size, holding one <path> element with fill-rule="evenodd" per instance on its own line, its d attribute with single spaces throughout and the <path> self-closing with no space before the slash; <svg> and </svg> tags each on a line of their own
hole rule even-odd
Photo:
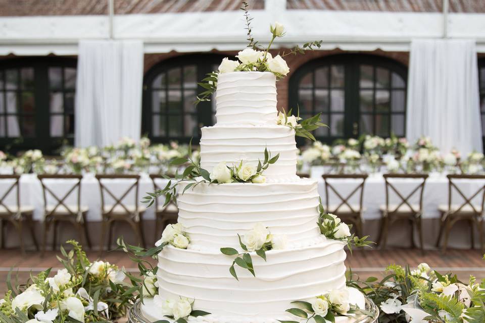
<svg viewBox="0 0 485 323">
<path fill-rule="evenodd" d="M 126 213 L 132 213 L 133 210 L 130 211 L 130 208 L 128 205 L 123 202 L 125 197 L 130 194 L 134 190 L 134 206 L 135 209 L 134 211 L 137 212 L 138 210 L 138 187 L 139 187 L 139 180 L 140 176 L 139 175 L 131 175 L 131 174 L 119 174 L 119 175 L 112 175 L 112 174 L 97 174 L 96 179 L 98 179 L 98 182 L 100 183 L 100 190 L 101 190 L 101 209 L 103 213 L 111 213 L 115 210 L 117 206 L 123 208 Z M 113 191 L 105 185 L 105 180 L 106 181 L 112 181 L 112 180 L 134 180 L 133 184 L 127 184 L 125 187 L 128 187 L 125 191 L 122 191 L 122 194 L 115 194 Z M 129 186 L 128 186 L 129 185 Z M 105 193 L 113 199 L 114 203 L 110 207 L 108 211 L 106 211 L 106 201 L 107 198 L 105 196 Z"/>
</svg>

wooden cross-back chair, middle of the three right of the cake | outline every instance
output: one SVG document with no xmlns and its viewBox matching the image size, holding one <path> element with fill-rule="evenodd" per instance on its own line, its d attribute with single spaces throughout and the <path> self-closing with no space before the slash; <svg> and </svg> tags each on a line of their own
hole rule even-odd
<svg viewBox="0 0 485 323">
<path fill-rule="evenodd" d="M 381 248 L 385 248 L 389 227 L 397 221 L 407 221 L 411 225 L 411 246 L 414 244 L 414 227 L 416 227 L 419 236 L 419 246 L 423 250 L 423 233 L 422 233 L 422 212 L 423 212 L 423 192 L 424 184 L 428 178 L 427 174 L 384 174 L 385 181 L 385 204 L 379 207 L 381 212 L 381 225 L 378 243 Z M 396 179 L 415 179 L 419 183 L 408 194 L 396 187 L 392 183 Z M 419 202 L 412 203 L 411 199 L 418 195 Z M 390 203 L 391 195 L 397 196 L 398 203 Z"/>
</svg>

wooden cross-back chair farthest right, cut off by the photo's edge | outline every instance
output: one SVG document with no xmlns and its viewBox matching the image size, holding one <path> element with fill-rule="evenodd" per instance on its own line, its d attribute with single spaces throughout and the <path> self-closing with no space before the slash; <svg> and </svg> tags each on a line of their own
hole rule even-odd
<svg viewBox="0 0 485 323">
<path fill-rule="evenodd" d="M 484 252 L 483 245 L 483 211 L 485 203 L 485 183 L 473 194 L 467 195 L 460 189 L 458 182 L 462 180 L 481 181 L 485 180 L 485 175 L 447 175 L 448 177 L 448 205 L 439 205 L 438 210 L 441 213 L 440 233 L 436 246 L 440 246 L 441 238 L 445 235 L 442 252 L 446 252 L 448 247 L 448 236 L 453 226 L 459 221 L 468 221 L 470 224 L 470 242 L 471 248 L 474 248 L 474 230 L 478 229 L 481 252 Z M 453 191 L 456 191 L 464 200 L 463 203 L 453 204 Z M 480 197 L 480 204 L 473 203 L 473 199 Z"/>
</svg>

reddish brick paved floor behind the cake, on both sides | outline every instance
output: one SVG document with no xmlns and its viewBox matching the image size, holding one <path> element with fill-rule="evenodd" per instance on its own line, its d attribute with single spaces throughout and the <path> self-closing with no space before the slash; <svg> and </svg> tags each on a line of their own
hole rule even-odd
<svg viewBox="0 0 485 323">
<path fill-rule="evenodd" d="M 18 250 L 1 250 L 0 251 L 0 295 L 6 291 L 5 281 L 11 267 L 14 268 L 14 275 L 17 273 L 19 282 L 25 282 L 32 271 L 38 273 L 46 268 L 53 267 L 54 270 L 60 267 L 60 262 L 56 255 L 60 252 L 47 251 L 45 256 L 40 257 L 39 253 L 27 252 L 22 255 Z M 91 261 L 98 258 L 118 266 L 124 266 L 128 271 L 136 272 L 135 265 L 123 252 L 111 251 L 87 252 Z M 154 260 L 155 261 L 155 260 Z M 346 265 L 365 279 L 369 276 L 382 277 L 382 271 L 385 266 L 396 264 L 409 264 L 416 267 L 420 262 L 427 262 L 435 270 L 446 273 L 453 271 L 461 280 L 468 280 L 469 275 L 475 275 L 477 278 L 485 278 L 485 260 L 478 250 L 453 250 L 450 249 L 446 255 L 440 251 L 425 251 L 413 249 L 390 249 L 390 250 L 357 250 L 351 255 L 348 253 Z"/>
</svg>

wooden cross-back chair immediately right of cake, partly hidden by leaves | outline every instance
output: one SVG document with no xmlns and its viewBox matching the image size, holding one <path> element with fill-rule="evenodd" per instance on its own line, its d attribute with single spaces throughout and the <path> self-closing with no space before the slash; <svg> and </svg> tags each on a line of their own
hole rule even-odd
<svg viewBox="0 0 485 323">
<path fill-rule="evenodd" d="M 324 174 L 322 175 L 325 182 L 325 205 L 326 211 L 335 214 L 341 218 L 345 223 L 351 223 L 355 227 L 355 233 L 357 236 L 362 236 L 362 213 L 364 212 L 363 198 L 364 198 L 364 184 L 367 179 L 367 174 Z M 355 179 L 359 183 L 357 187 L 346 197 L 329 182 L 329 180 L 345 180 Z M 330 203 L 329 190 L 340 200 L 338 204 Z M 350 199 L 355 195 L 359 195 L 359 204 L 352 204 Z"/>
</svg>

